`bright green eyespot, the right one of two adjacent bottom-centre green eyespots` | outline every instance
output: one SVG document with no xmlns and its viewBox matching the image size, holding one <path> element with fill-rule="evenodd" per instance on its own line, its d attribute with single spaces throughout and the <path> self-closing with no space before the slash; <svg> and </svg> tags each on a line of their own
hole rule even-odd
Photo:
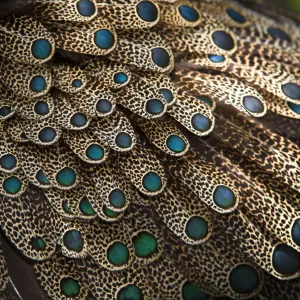
<svg viewBox="0 0 300 300">
<path fill-rule="evenodd" d="M 147 231 L 141 231 L 132 239 L 135 255 L 141 258 L 150 257 L 157 252 L 157 239 Z"/>
</svg>

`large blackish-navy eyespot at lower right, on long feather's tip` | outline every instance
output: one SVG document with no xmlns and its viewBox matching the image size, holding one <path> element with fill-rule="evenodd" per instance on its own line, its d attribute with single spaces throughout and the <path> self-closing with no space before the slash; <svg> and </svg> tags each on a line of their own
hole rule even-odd
<svg viewBox="0 0 300 300">
<path fill-rule="evenodd" d="M 285 276 L 293 275 L 299 271 L 299 253 L 286 244 L 279 244 L 273 252 L 272 263 L 274 269 Z"/>
</svg>

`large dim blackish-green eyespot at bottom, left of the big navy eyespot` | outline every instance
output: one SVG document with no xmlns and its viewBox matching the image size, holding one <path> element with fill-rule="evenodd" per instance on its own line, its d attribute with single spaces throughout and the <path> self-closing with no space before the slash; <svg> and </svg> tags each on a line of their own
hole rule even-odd
<svg viewBox="0 0 300 300">
<path fill-rule="evenodd" d="M 236 293 L 250 294 L 258 288 L 259 276 L 253 267 L 241 264 L 230 272 L 229 283 Z"/>
</svg>

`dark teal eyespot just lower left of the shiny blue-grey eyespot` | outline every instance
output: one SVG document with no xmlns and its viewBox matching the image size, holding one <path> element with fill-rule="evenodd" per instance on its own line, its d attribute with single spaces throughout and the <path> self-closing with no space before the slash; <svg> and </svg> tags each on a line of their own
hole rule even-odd
<svg viewBox="0 0 300 300">
<path fill-rule="evenodd" d="M 191 217 L 186 224 L 185 232 L 194 241 L 202 240 L 208 234 L 208 222 L 198 216 Z"/>
</svg>

